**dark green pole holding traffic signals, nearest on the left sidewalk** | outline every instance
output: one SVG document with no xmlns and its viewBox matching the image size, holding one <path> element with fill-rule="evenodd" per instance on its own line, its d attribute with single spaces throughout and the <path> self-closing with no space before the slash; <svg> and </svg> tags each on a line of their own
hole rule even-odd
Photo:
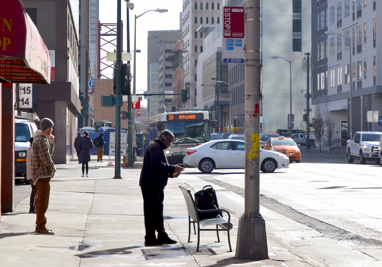
<svg viewBox="0 0 382 267">
<path fill-rule="evenodd" d="M 117 62 L 115 64 L 115 175 L 121 179 L 121 1 L 117 1 Z"/>
</svg>

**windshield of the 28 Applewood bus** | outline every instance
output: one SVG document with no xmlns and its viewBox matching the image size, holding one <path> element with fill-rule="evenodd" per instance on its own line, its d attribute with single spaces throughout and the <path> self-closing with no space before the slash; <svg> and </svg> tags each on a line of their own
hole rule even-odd
<svg viewBox="0 0 382 267">
<path fill-rule="evenodd" d="M 207 121 L 163 122 L 165 129 L 170 130 L 175 138 L 173 144 L 205 143 L 209 141 Z"/>
</svg>

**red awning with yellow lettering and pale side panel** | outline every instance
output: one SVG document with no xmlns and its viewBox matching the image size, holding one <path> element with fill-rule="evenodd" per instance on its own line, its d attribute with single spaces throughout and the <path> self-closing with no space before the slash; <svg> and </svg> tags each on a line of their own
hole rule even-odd
<svg viewBox="0 0 382 267">
<path fill-rule="evenodd" d="M 0 82 L 50 84 L 50 56 L 21 0 L 0 0 Z"/>
</svg>

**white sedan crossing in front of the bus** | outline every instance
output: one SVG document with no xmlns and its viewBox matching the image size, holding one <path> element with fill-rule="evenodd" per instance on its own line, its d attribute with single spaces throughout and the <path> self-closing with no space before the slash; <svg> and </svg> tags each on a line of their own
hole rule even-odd
<svg viewBox="0 0 382 267">
<path fill-rule="evenodd" d="M 186 167 L 198 167 L 205 173 L 214 169 L 244 169 L 244 150 L 242 140 L 212 140 L 186 148 L 183 164 Z M 260 164 L 262 172 L 274 172 L 276 169 L 289 168 L 289 158 L 282 153 L 260 149 Z"/>
</svg>

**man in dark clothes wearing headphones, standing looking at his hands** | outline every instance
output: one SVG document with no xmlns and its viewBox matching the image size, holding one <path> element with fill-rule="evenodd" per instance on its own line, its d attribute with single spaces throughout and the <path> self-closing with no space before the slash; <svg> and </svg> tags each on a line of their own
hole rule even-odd
<svg viewBox="0 0 382 267">
<path fill-rule="evenodd" d="M 183 170 L 178 165 L 168 164 L 163 150 L 169 148 L 174 141 L 174 134 L 163 130 L 159 138 L 147 146 L 144 153 L 143 166 L 139 185 L 143 196 L 144 224 L 146 228 L 145 245 L 156 246 L 175 244 L 176 241 L 168 237 L 163 225 L 164 188 L 168 177 L 178 177 Z M 158 236 L 155 236 L 155 231 Z"/>
</svg>

